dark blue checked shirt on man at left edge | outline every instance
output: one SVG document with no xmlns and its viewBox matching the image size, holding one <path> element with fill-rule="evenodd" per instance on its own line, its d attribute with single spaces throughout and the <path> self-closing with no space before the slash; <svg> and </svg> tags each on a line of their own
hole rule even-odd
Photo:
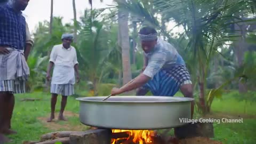
<svg viewBox="0 0 256 144">
<path fill-rule="evenodd" d="M 0 6 L 0 46 L 24 50 L 26 44 L 26 20 L 21 12 L 15 12 L 9 4 Z"/>
</svg>

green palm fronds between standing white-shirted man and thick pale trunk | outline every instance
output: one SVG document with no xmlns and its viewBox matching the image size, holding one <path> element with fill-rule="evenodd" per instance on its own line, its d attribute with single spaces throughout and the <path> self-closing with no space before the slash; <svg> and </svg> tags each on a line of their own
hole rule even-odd
<svg viewBox="0 0 256 144">
<path fill-rule="evenodd" d="M 109 76 L 110 71 L 118 73 L 116 67 L 121 65 L 121 52 L 116 44 L 117 27 L 114 25 L 105 28 L 105 21 L 98 20 L 101 12 L 85 11 L 77 38 L 80 67 L 83 69 L 83 75 L 93 83 L 95 94 L 98 93 L 99 84 Z"/>
</svg>

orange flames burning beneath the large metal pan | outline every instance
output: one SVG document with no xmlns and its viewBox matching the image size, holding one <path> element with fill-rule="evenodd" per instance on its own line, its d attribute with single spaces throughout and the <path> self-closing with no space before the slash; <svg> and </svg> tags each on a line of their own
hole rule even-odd
<svg viewBox="0 0 256 144">
<path fill-rule="evenodd" d="M 112 130 L 113 133 L 118 133 L 118 132 L 130 132 L 129 138 L 133 138 L 132 141 L 133 143 L 138 143 L 143 144 L 145 143 L 153 143 L 151 140 L 150 135 L 154 133 L 154 131 L 149 131 L 149 130 Z M 121 138 L 122 139 L 122 138 Z M 112 139 L 111 144 L 115 144 L 118 139 Z M 122 143 L 121 143 L 122 144 Z"/>
</svg>

